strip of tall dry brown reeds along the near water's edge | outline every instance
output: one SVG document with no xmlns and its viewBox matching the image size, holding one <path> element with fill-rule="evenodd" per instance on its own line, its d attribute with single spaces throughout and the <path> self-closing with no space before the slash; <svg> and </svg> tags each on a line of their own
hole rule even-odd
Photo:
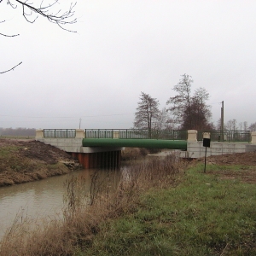
<svg viewBox="0 0 256 256">
<path fill-rule="evenodd" d="M 165 160 L 144 162 L 123 170 L 117 189 L 109 186 L 108 173 L 104 178 L 95 174 L 91 178 L 90 195 L 85 192 L 84 181 L 73 178 L 66 184 L 64 218 L 35 223 L 25 218 L 21 224 L 14 223 L 0 243 L 0 254 L 73 255 L 77 249 L 90 246 L 103 221 L 132 212 L 140 193 L 172 185 L 185 165 L 174 154 Z"/>
</svg>

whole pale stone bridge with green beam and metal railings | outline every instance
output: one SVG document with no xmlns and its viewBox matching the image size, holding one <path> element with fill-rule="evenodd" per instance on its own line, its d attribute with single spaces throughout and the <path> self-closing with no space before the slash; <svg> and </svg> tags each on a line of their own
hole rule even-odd
<svg viewBox="0 0 256 256">
<path fill-rule="evenodd" d="M 211 138 L 207 156 L 256 150 L 256 132 L 250 131 L 148 131 L 136 129 L 44 129 L 36 140 L 66 151 L 84 168 L 119 166 L 124 147 L 179 150 L 184 158 L 205 155 L 203 137 Z"/>
</svg>

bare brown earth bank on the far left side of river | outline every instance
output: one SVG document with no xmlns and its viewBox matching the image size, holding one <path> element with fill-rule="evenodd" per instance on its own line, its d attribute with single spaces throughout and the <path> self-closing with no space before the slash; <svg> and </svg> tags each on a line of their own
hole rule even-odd
<svg viewBox="0 0 256 256">
<path fill-rule="evenodd" d="M 0 139 L 0 187 L 66 174 L 79 163 L 66 152 L 28 139 Z"/>
</svg>

